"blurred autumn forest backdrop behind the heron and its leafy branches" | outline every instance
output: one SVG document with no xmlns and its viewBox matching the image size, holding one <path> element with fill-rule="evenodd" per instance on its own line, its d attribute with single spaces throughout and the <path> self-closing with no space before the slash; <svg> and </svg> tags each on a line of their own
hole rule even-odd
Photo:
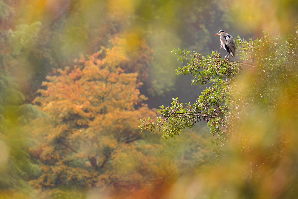
<svg viewBox="0 0 298 199">
<path fill-rule="evenodd" d="M 0 198 L 212 198 L 199 179 L 221 160 L 206 123 L 163 141 L 139 119 L 205 88 L 174 75 L 174 47 L 211 54 L 219 30 L 296 34 L 297 10 L 294 0 L 0 1 Z"/>
</svg>

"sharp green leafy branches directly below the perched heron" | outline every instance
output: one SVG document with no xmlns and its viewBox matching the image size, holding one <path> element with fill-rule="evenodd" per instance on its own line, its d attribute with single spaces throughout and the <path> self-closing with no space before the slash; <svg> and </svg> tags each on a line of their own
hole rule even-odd
<svg viewBox="0 0 298 199">
<path fill-rule="evenodd" d="M 187 55 L 190 51 L 181 51 L 174 49 L 173 53 L 177 54 L 178 60 L 181 62 L 184 59 L 187 65 L 182 69 L 179 67 L 176 74 L 187 75 L 193 74 L 192 84 L 205 85 L 212 83 L 206 88 L 197 98 L 194 104 L 180 103 L 178 97 L 173 98 L 171 107 L 161 106 L 158 111 L 162 114 L 157 118 L 158 123 L 154 124 L 150 118 L 148 122 L 145 120 L 140 126 L 147 130 L 157 128 L 164 132 L 164 138 L 175 138 L 179 135 L 182 129 L 186 127 L 192 128 L 196 122 L 207 119 L 208 126 L 211 131 L 218 135 L 216 143 L 219 145 L 225 140 L 226 115 L 229 113 L 228 103 L 229 90 L 234 86 L 240 69 L 237 63 L 230 63 L 227 59 L 221 59 L 218 52 L 212 52 L 212 55 L 207 55 L 207 58 L 196 52 L 191 52 L 190 58 Z"/>
</svg>

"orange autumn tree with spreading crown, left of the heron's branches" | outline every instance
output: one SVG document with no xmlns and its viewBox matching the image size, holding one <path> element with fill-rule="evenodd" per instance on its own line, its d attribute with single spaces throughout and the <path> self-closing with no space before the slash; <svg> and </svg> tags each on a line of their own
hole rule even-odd
<svg viewBox="0 0 298 199">
<path fill-rule="evenodd" d="M 108 187 L 160 193 L 175 169 L 159 154 L 161 145 L 146 141 L 138 121 L 156 112 L 148 109 L 137 89 L 136 73 L 124 73 L 119 64 L 127 61 L 124 39 L 111 41 L 88 59 L 80 59 L 72 70 L 57 70 L 49 76 L 45 90 L 35 99 L 49 115 L 35 121 L 41 144 L 32 148 L 42 175 L 32 186 L 55 195 L 61 186 Z M 104 58 L 99 58 L 104 57 Z"/>
</svg>

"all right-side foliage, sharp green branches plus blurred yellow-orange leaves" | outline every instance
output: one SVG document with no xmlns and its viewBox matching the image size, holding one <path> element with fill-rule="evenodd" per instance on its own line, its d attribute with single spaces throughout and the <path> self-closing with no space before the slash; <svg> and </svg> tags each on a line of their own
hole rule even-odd
<svg viewBox="0 0 298 199">
<path fill-rule="evenodd" d="M 191 73 L 193 83 L 212 85 L 194 104 L 176 98 L 162 106 L 158 123 L 141 120 L 140 128 L 162 130 L 164 138 L 207 120 L 218 136 L 220 165 L 198 175 L 193 198 L 297 198 L 298 30 L 286 37 L 263 33 L 254 41 L 235 39 L 241 63 L 218 52 L 189 58 L 189 51 L 174 49 L 187 61 L 178 75 Z"/>
</svg>

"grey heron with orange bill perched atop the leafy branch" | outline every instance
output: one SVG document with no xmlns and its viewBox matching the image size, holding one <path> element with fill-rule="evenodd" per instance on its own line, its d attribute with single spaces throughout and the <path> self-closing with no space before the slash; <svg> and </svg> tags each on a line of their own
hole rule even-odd
<svg viewBox="0 0 298 199">
<path fill-rule="evenodd" d="M 220 35 L 219 39 L 221 40 L 221 47 L 223 47 L 224 50 L 228 52 L 226 56 L 228 56 L 228 58 L 230 57 L 230 55 L 232 57 L 235 57 L 236 44 L 232 36 L 230 34 L 225 33 L 225 31 L 223 30 L 220 30 L 215 35 Z M 226 58 L 226 56 L 224 58 Z"/>
</svg>

